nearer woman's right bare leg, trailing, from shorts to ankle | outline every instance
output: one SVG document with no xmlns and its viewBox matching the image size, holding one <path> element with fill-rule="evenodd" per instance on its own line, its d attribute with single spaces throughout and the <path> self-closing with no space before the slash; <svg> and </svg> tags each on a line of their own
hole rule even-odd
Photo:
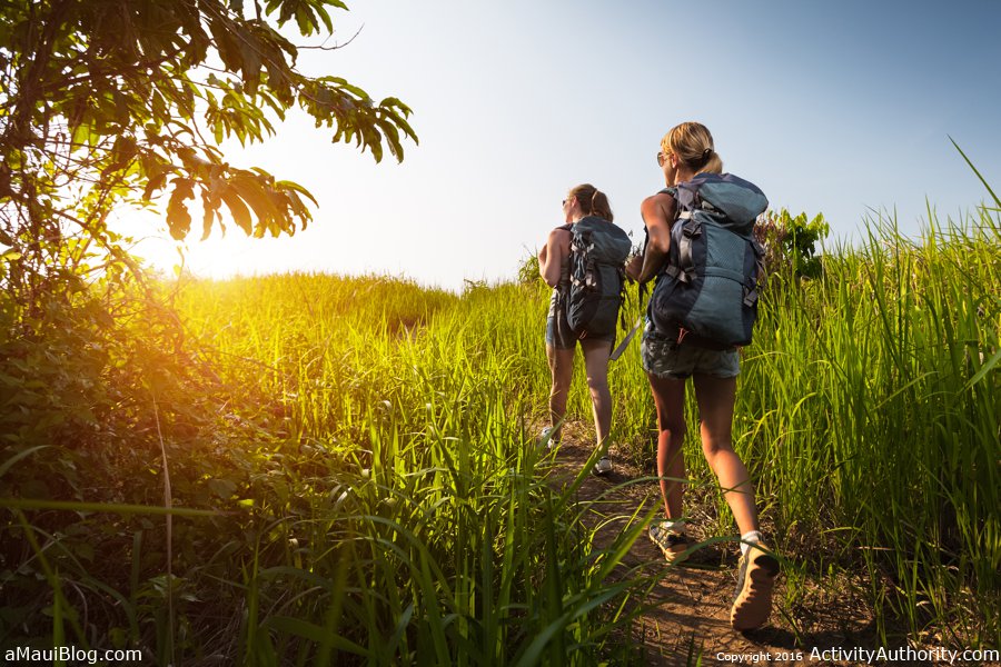
<svg viewBox="0 0 1001 667">
<path fill-rule="evenodd" d="M 736 378 L 695 375 L 695 399 L 698 402 L 702 451 L 723 489 L 741 535 L 757 530 L 754 487 L 747 468 L 733 450 L 733 405 Z"/>
</svg>

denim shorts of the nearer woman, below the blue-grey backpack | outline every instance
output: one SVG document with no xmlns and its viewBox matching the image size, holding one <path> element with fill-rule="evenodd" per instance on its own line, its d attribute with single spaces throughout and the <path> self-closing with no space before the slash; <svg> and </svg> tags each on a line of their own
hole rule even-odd
<svg viewBox="0 0 1001 667">
<path fill-rule="evenodd" d="M 694 374 L 716 378 L 735 378 L 741 372 L 741 355 L 736 349 L 711 350 L 675 340 L 646 322 L 640 345 L 643 369 L 665 380 L 683 380 Z"/>
</svg>

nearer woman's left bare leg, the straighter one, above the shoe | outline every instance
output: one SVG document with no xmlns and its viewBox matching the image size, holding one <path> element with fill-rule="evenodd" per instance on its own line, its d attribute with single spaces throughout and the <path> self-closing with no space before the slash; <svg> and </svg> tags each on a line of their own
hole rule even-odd
<svg viewBox="0 0 1001 667">
<path fill-rule="evenodd" d="M 685 380 L 667 380 L 647 375 L 657 409 L 657 475 L 661 479 L 661 497 L 664 515 L 672 520 L 682 517 L 685 458 Z M 664 479 L 670 477 L 672 479 Z"/>
</svg>

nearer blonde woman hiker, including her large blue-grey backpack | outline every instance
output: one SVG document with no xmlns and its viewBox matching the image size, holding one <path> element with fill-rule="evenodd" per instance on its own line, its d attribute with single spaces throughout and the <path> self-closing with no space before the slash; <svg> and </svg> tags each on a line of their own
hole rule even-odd
<svg viewBox="0 0 1001 667">
<path fill-rule="evenodd" d="M 641 282 L 657 279 L 641 352 L 657 415 L 665 518 L 651 526 L 650 537 L 667 563 L 685 557 L 690 540 L 680 480 L 685 478 L 685 387 L 692 378 L 702 451 L 741 532 L 731 625 L 749 630 L 767 620 L 779 575 L 779 560 L 762 541 L 754 488 L 731 432 L 737 347 L 750 342 L 761 270 L 751 228 L 767 200 L 752 183 L 722 173 L 712 135 L 697 122 L 678 125 L 664 136 L 657 166 L 667 188 L 643 201 L 646 248 L 626 267 Z M 729 267 L 716 266 L 726 262 Z"/>
</svg>

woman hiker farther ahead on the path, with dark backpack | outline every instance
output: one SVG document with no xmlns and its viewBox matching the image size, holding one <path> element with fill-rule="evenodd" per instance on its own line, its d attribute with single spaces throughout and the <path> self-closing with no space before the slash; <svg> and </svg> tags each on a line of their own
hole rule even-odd
<svg viewBox="0 0 1001 667">
<path fill-rule="evenodd" d="M 566 225 L 551 231 L 538 252 L 539 275 L 553 288 L 546 320 L 546 357 L 553 384 L 549 426 L 543 430 L 542 441 L 551 447 L 559 442 L 574 352 L 579 342 L 594 409 L 596 446 L 601 447 L 612 426 L 608 357 L 615 344 L 625 278 L 623 265 L 631 241 L 612 222 L 607 196 L 589 183 L 566 195 L 563 217 Z M 598 459 L 593 470 L 595 475 L 611 471 L 607 456 Z"/>
</svg>

